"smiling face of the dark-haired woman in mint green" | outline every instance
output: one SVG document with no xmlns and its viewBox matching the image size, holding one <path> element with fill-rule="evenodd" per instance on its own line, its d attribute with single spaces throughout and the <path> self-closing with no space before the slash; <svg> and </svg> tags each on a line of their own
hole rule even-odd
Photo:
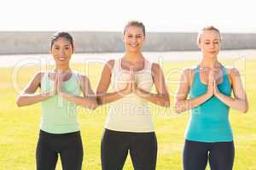
<svg viewBox="0 0 256 170">
<path fill-rule="evenodd" d="M 58 37 L 52 44 L 51 54 L 56 65 L 69 65 L 69 60 L 73 54 L 73 46 L 66 37 Z"/>
</svg>

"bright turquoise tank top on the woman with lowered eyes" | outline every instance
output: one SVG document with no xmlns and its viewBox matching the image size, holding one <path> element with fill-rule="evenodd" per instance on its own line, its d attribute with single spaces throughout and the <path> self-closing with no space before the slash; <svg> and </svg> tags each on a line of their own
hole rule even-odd
<svg viewBox="0 0 256 170">
<path fill-rule="evenodd" d="M 196 98 L 207 93 L 207 85 L 200 80 L 199 66 L 195 68 L 195 77 L 190 88 L 190 98 Z M 231 87 L 226 69 L 223 67 L 223 82 L 218 84 L 218 90 L 230 96 Z M 193 108 L 185 138 L 199 142 L 229 142 L 233 134 L 229 122 L 229 106 L 217 97 L 212 96 L 205 103 Z"/>
</svg>

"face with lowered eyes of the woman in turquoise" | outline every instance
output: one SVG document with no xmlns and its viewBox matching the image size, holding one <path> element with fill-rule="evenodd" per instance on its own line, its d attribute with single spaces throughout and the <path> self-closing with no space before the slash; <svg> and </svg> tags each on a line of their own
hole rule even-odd
<svg viewBox="0 0 256 170">
<path fill-rule="evenodd" d="M 206 30 L 201 32 L 199 48 L 203 56 L 216 57 L 220 49 L 220 36 L 218 31 Z"/>
</svg>

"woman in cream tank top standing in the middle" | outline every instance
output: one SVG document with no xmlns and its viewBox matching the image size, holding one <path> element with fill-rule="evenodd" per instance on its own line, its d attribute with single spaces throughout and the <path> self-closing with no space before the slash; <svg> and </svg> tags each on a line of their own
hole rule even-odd
<svg viewBox="0 0 256 170">
<path fill-rule="evenodd" d="M 121 170 L 130 153 L 135 170 L 154 170 L 157 140 L 148 101 L 168 107 L 165 78 L 143 57 L 145 27 L 130 21 L 123 35 L 125 55 L 109 60 L 97 88 L 98 105 L 110 104 L 102 135 L 102 170 Z M 151 88 L 155 87 L 156 94 Z"/>
</svg>

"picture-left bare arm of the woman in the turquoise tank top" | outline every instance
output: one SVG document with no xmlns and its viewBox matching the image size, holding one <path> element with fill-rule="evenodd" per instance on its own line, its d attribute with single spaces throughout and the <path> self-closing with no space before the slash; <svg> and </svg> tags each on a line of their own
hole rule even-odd
<svg viewBox="0 0 256 170">
<path fill-rule="evenodd" d="M 207 99 L 210 99 L 212 97 L 213 72 L 209 74 L 207 93 L 202 94 L 197 98 L 187 99 L 189 94 L 190 84 L 191 84 L 189 80 L 191 80 L 191 77 L 192 77 L 191 69 L 186 69 L 183 71 L 183 74 L 180 78 L 179 85 L 177 88 L 177 94 L 175 97 L 175 111 L 177 113 L 188 111 L 189 109 L 192 109 L 198 105 L 201 105 L 202 103 L 206 102 Z"/>
</svg>

